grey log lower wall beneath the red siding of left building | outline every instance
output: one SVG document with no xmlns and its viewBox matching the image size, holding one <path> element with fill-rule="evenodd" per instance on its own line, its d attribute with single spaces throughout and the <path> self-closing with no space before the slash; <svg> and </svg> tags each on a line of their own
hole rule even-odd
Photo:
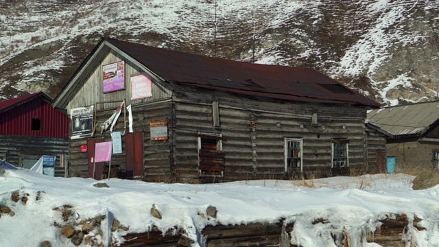
<svg viewBox="0 0 439 247">
<path fill-rule="evenodd" d="M 17 167 L 23 167 L 23 159 L 38 160 L 43 155 L 56 156 L 55 175 L 64 176 L 64 167 L 60 167 L 60 157 L 64 155 L 64 161 L 68 160 L 69 139 L 15 135 L 1 135 L 0 139 L 1 159 Z"/>
</svg>

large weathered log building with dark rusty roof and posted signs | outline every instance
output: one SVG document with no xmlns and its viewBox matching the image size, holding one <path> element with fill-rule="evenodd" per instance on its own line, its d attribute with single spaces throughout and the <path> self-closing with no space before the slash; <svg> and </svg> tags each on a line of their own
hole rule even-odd
<svg viewBox="0 0 439 247">
<path fill-rule="evenodd" d="M 313 69 L 106 38 L 53 106 L 71 119 L 72 176 L 203 183 L 368 171 L 380 104 Z"/>
</svg>

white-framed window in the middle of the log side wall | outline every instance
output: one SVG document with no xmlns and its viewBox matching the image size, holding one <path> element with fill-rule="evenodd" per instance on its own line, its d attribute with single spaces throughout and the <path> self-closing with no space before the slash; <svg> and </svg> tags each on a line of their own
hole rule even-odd
<svg viewBox="0 0 439 247">
<path fill-rule="evenodd" d="M 302 139 L 285 138 L 285 172 L 302 172 Z"/>
</svg>

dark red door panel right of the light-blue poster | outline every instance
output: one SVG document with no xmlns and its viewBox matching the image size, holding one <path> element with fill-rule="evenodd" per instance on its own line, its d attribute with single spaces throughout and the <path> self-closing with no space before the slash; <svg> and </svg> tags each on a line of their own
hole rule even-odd
<svg viewBox="0 0 439 247">
<path fill-rule="evenodd" d="M 126 176 L 143 176 L 143 132 L 125 134 Z"/>
</svg>

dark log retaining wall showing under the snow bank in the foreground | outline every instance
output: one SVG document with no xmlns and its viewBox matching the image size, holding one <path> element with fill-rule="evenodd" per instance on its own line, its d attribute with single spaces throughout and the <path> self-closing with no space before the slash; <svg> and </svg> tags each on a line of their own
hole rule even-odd
<svg viewBox="0 0 439 247">
<path fill-rule="evenodd" d="M 376 243 L 383 247 L 405 247 L 412 246 L 412 235 L 408 233 L 413 228 L 416 231 L 425 231 L 426 229 L 419 226 L 420 219 L 416 216 L 414 220 L 409 220 L 407 215 L 386 215 L 382 220 L 376 220 L 375 232 L 366 233 L 365 235 L 350 235 L 343 228 L 330 228 L 333 237 L 334 246 L 355 247 L 354 243 L 362 243 L 366 239 L 367 243 Z M 331 224 L 327 219 L 316 219 L 309 222 L 311 225 Z M 413 227 L 412 227 L 413 226 Z M 244 246 L 280 246 L 280 247 L 298 247 L 291 244 L 289 239 L 296 238 L 294 222 L 286 224 L 283 219 L 276 223 L 254 222 L 239 225 L 222 225 L 205 226 L 200 231 L 203 236 L 199 239 L 199 244 L 205 244 L 206 247 L 244 247 Z M 348 226 L 346 226 L 348 228 Z M 178 229 L 178 227 L 176 227 Z M 176 231 L 169 229 L 168 232 L 162 233 L 154 226 L 153 230 L 147 233 L 130 233 L 123 236 L 126 242 L 121 246 L 174 246 L 189 247 L 193 246 L 193 241 L 185 239 L 184 229 Z M 408 234 L 407 234 L 408 233 Z M 300 236 L 298 236 L 300 237 Z M 325 241 L 327 239 L 324 239 Z"/>
</svg>

